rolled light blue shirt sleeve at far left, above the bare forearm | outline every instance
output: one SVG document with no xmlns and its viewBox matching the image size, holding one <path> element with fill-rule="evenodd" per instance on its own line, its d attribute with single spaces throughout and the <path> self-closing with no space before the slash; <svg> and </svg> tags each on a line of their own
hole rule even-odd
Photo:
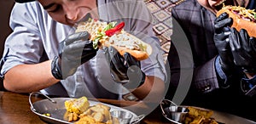
<svg viewBox="0 0 256 124">
<path fill-rule="evenodd" d="M 44 54 L 36 21 L 36 10 L 33 9 L 35 3 L 15 3 L 12 9 L 9 25 L 13 32 L 4 44 L 1 77 L 15 65 L 38 63 Z"/>
</svg>

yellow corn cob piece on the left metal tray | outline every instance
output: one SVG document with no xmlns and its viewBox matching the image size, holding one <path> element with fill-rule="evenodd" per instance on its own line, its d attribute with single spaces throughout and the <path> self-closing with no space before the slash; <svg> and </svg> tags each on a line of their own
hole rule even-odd
<svg viewBox="0 0 256 124">
<path fill-rule="evenodd" d="M 77 115 L 83 113 L 85 110 L 88 109 L 89 106 L 90 104 L 86 97 L 65 101 L 65 107 L 67 111 L 76 113 Z"/>
</svg>

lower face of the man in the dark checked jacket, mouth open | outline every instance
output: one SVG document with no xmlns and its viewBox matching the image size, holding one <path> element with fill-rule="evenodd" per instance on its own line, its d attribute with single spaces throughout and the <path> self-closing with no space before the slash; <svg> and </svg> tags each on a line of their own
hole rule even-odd
<svg viewBox="0 0 256 124">
<path fill-rule="evenodd" d="M 223 5 L 236 5 L 245 7 L 249 0 L 197 0 L 201 6 L 207 8 L 212 11 L 212 13 L 216 14 L 219 9 L 223 7 Z"/>
</svg>

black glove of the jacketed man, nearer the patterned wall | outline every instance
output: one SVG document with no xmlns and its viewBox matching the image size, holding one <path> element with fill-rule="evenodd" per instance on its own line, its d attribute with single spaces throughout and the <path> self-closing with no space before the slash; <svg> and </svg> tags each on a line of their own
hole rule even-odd
<svg viewBox="0 0 256 124">
<path fill-rule="evenodd" d="M 232 20 L 229 18 L 227 13 L 220 14 L 216 20 L 214 20 L 214 42 L 216 48 L 218 49 L 220 65 L 226 75 L 230 75 L 235 66 L 229 41 L 229 26 L 231 23 Z"/>
</svg>

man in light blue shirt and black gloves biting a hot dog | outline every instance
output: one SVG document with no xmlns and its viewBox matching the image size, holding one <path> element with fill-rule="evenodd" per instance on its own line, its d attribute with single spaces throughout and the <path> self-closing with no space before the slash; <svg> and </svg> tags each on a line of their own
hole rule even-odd
<svg viewBox="0 0 256 124">
<path fill-rule="evenodd" d="M 164 97 L 163 51 L 142 0 L 15 2 L 9 23 L 13 32 L 6 39 L 1 59 L 1 77 L 7 90 L 73 98 L 160 101 Z M 153 53 L 137 61 L 131 54 L 116 54 L 112 47 L 107 48 L 109 52 L 93 48 L 88 32 L 74 33 L 74 27 L 88 14 L 95 20 L 124 21 L 124 30 L 143 38 Z M 106 56 L 113 57 L 110 63 Z M 131 66 L 135 68 L 128 76 Z"/>
</svg>

